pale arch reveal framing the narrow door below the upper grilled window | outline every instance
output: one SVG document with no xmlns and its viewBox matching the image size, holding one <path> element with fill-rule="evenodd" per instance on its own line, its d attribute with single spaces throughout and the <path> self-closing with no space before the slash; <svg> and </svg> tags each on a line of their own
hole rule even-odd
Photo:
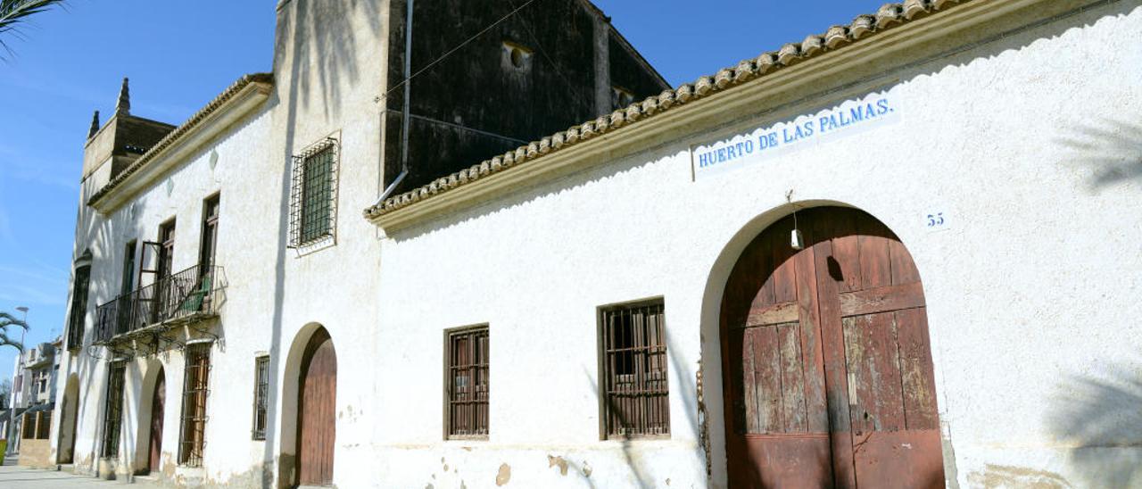
<svg viewBox="0 0 1142 489">
<path fill-rule="evenodd" d="M 279 463 L 279 481 L 284 484 L 297 483 L 298 467 L 298 427 L 300 426 L 299 415 L 299 401 L 300 401 L 300 380 L 304 363 L 306 361 L 306 350 L 311 346 L 315 338 L 329 338 L 332 342 L 332 337 L 325 327 L 319 322 L 311 322 L 301 327 L 297 335 L 293 336 L 293 342 L 290 343 L 289 351 L 286 354 L 286 366 L 282 370 L 281 377 L 281 402 L 279 403 L 280 416 L 280 428 L 278 430 L 278 435 L 280 436 L 279 449 L 280 449 L 280 463 Z"/>
</svg>

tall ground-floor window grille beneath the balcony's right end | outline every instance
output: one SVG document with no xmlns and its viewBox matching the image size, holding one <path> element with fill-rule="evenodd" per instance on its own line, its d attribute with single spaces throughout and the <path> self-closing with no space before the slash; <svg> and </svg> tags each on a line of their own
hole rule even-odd
<svg viewBox="0 0 1142 489">
<path fill-rule="evenodd" d="M 186 371 L 183 377 L 183 415 L 178 436 L 178 463 L 202 466 L 206 448 L 207 395 L 210 378 L 210 344 L 186 347 Z"/>
</svg>

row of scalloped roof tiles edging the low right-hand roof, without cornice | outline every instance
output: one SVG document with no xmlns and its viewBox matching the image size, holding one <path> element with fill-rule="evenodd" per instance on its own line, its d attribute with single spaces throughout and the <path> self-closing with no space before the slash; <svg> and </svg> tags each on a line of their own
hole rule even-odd
<svg viewBox="0 0 1142 489">
<path fill-rule="evenodd" d="M 823 34 L 811 34 L 804 41 L 786 43 L 777 51 L 762 53 L 756 58 L 743 59 L 735 66 L 724 67 L 717 73 L 701 77 L 692 83 L 683 83 L 673 90 L 665 90 L 658 96 L 635 102 L 626 109 L 600 115 L 595 120 L 572 126 L 568 130 L 555 133 L 447 177 L 436 178 L 427 185 L 385 199 L 385 201 L 364 209 L 364 217 L 383 216 L 507 168 L 531 162 L 561 149 L 611 133 L 671 107 L 708 97 L 781 67 L 791 66 L 891 27 L 970 1 L 972 0 L 906 0 L 902 3 L 885 3 L 876 14 L 859 15 L 849 25 L 834 25 Z"/>
</svg>

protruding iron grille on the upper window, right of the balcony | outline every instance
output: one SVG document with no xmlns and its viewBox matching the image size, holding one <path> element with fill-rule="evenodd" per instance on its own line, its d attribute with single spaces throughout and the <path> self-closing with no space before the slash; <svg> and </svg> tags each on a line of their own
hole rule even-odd
<svg viewBox="0 0 1142 489">
<path fill-rule="evenodd" d="M 333 237 L 338 149 L 337 139 L 329 137 L 293 155 L 290 248 Z"/>
</svg>

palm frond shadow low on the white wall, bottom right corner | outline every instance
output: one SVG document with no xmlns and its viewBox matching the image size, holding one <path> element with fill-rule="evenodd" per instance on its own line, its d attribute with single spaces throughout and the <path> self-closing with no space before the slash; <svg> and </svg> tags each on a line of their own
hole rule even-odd
<svg viewBox="0 0 1142 489">
<path fill-rule="evenodd" d="M 1086 486 L 1142 487 L 1142 376 L 1071 378 L 1054 404 L 1051 430 L 1073 447 L 1069 462 Z"/>
</svg>

